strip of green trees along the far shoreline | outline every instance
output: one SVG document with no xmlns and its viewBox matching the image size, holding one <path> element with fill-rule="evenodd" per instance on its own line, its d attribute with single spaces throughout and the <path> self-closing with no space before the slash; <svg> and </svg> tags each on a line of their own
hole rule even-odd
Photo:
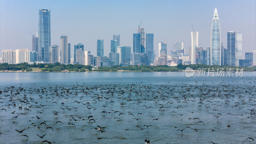
<svg viewBox="0 0 256 144">
<path fill-rule="evenodd" d="M 205 68 L 205 71 L 215 70 L 219 68 L 224 68 L 223 71 L 228 71 L 229 68 L 233 68 L 233 71 L 236 69 L 244 69 L 244 71 L 256 71 L 256 66 L 253 67 L 235 67 L 235 66 L 218 66 L 218 65 L 204 65 L 204 64 L 190 64 L 190 65 L 182 65 L 179 64 L 177 66 L 169 67 L 167 65 L 163 66 L 112 66 L 112 67 L 98 67 L 93 69 L 92 66 L 87 65 L 64 65 L 56 62 L 55 64 L 31 64 L 28 63 L 20 63 L 20 64 L 8 64 L 2 63 L 0 64 L 0 72 L 84 72 L 84 71 L 118 71 L 118 72 L 125 72 L 125 71 L 171 71 L 171 72 L 178 72 L 184 71 L 187 67 L 192 68 L 193 70 L 197 71 L 198 68 Z"/>
</svg>

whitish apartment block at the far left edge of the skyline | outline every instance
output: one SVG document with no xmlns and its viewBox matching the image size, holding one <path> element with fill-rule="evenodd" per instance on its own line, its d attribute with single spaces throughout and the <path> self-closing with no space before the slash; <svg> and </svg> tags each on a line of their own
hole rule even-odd
<svg viewBox="0 0 256 144">
<path fill-rule="evenodd" d="M 8 64 L 16 63 L 16 51 L 3 50 L 2 51 L 2 63 L 8 63 Z"/>
</svg>

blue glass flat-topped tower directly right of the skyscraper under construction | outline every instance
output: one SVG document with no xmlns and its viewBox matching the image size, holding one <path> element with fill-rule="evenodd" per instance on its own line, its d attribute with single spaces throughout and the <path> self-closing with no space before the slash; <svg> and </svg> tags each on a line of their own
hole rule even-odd
<svg viewBox="0 0 256 144">
<path fill-rule="evenodd" d="M 154 34 L 146 34 L 146 50 L 148 55 L 148 64 L 154 64 Z"/>
</svg>

